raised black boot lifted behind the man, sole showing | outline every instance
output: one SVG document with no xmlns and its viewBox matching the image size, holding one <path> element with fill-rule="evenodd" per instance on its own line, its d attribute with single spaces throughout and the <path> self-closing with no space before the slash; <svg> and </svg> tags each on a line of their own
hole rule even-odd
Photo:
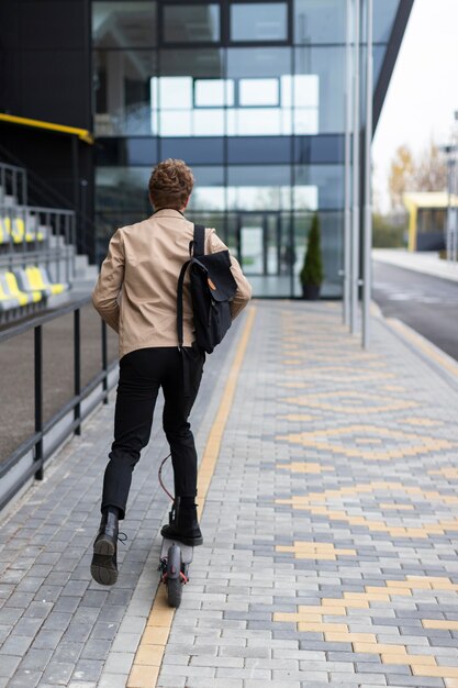
<svg viewBox="0 0 458 688">
<path fill-rule="evenodd" d="M 99 532 L 93 543 L 92 578 L 101 586 L 112 586 L 118 580 L 118 519 L 113 507 L 103 509 Z"/>
</svg>

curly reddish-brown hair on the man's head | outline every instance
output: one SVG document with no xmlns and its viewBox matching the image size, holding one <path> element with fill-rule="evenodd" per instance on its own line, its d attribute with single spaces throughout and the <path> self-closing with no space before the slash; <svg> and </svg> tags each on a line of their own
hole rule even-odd
<svg viewBox="0 0 458 688">
<path fill-rule="evenodd" d="M 167 158 L 158 163 L 149 178 L 148 189 L 155 210 L 181 210 L 191 195 L 194 177 L 183 160 Z"/>
</svg>

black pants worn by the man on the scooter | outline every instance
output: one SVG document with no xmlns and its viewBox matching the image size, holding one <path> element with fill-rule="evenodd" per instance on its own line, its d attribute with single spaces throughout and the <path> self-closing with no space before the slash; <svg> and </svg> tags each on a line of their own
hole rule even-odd
<svg viewBox="0 0 458 688">
<path fill-rule="evenodd" d="M 185 385 L 183 360 L 187 358 L 188 385 Z M 121 358 L 114 411 L 114 442 L 103 478 L 102 506 L 118 507 L 125 514 L 132 471 L 141 451 L 148 444 L 154 408 L 159 388 L 165 406 L 163 426 L 170 445 L 175 495 L 197 493 L 197 454 L 188 423 L 202 377 L 204 354 L 187 347 L 141 348 Z"/>
</svg>

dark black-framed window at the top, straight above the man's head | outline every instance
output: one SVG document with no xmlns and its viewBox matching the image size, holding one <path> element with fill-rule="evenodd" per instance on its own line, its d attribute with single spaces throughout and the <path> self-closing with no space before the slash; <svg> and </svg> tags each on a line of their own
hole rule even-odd
<svg viewBox="0 0 458 688">
<path fill-rule="evenodd" d="M 220 5 L 164 4 L 165 43 L 215 43 L 220 41 Z"/>
</svg>

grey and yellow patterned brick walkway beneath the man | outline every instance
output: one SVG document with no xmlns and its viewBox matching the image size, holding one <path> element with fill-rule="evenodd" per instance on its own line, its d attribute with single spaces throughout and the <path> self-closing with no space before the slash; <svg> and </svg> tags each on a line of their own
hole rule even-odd
<svg viewBox="0 0 458 688">
<path fill-rule="evenodd" d="M 119 582 L 90 579 L 110 404 L 1 522 L 0 686 L 458 686 L 458 367 L 382 320 L 361 352 L 333 303 L 253 309 L 205 370 L 179 610 L 155 598 L 157 433 Z"/>
</svg>

